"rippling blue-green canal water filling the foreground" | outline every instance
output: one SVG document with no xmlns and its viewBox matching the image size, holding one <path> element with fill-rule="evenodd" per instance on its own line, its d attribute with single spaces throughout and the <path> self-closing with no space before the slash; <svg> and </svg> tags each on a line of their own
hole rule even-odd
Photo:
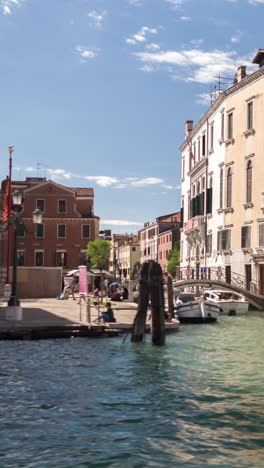
<svg viewBox="0 0 264 468">
<path fill-rule="evenodd" d="M 263 467 L 264 314 L 0 342 L 1 467 Z"/>
</svg>

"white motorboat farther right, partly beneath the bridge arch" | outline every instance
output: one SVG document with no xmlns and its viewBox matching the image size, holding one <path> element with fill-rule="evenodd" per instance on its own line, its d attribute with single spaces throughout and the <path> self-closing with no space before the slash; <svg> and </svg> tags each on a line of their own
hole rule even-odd
<svg viewBox="0 0 264 468">
<path fill-rule="evenodd" d="M 248 302 L 242 294 L 224 289 L 207 289 L 204 291 L 206 301 L 217 304 L 225 315 L 242 315 L 248 311 Z"/>
</svg>

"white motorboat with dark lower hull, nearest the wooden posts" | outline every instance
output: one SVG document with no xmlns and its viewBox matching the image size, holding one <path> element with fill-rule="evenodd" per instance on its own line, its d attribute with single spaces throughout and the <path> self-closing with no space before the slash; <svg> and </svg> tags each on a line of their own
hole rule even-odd
<svg viewBox="0 0 264 468">
<path fill-rule="evenodd" d="M 194 294 L 180 294 L 176 300 L 176 313 L 180 322 L 185 323 L 206 323 L 215 322 L 221 307 L 204 298 L 195 300 Z"/>
</svg>

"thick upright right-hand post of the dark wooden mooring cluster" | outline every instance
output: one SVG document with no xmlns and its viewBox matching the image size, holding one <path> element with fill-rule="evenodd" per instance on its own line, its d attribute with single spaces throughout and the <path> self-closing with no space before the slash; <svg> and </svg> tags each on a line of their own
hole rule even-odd
<svg viewBox="0 0 264 468">
<path fill-rule="evenodd" d="M 152 262 L 149 266 L 149 283 L 152 316 L 152 344 L 165 344 L 165 311 L 162 269 L 159 263 Z"/>
</svg>

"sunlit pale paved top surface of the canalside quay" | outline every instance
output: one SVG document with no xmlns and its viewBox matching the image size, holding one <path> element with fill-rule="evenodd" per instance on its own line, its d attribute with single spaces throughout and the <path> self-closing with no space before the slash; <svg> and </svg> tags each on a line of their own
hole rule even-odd
<svg viewBox="0 0 264 468">
<path fill-rule="evenodd" d="M 133 302 L 111 302 L 114 316 L 117 322 L 132 323 L 137 310 L 137 304 Z M 6 328 L 10 322 L 5 319 L 6 303 L 0 304 L 0 328 Z M 86 304 L 81 305 L 77 300 L 69 298 L 67 300 L 58 299 L 23 299 L 22 321 L 16 322 L 16 326 L 39 327 L 73 325 L 87 322 Z M 100 313 L 106 310 L 105 305 L 100 305 Z M 91 306 L 91 320 L 98 317 L 98 309 Z"/>
</svg>

